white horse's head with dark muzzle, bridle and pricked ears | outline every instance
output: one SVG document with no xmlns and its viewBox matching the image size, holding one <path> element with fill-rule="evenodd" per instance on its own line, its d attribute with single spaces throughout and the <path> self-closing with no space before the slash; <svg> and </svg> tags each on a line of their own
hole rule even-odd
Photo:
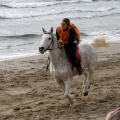
<svg viewBox="0 0 120 120">
<path fill-rule="evenodd" d="M 51 28 L 50 30 L 45 30 L 43 28 L 43 36 L 41 38 L 39 52 L 43 54 L 47 50 L 52 49 L 53 44 L 54 44 L 54 41 L 53 41 L 53 28 Z"/>
</svg>

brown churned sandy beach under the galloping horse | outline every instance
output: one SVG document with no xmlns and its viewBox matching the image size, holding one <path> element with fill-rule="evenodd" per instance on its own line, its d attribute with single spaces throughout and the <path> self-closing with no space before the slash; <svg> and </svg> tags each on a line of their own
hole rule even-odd
<svg viewBox="0 0 120 120">
<path fill-rule="evenodd" d="M 94 80 L 83 96 L 82 76 L 75 76 L 73 106 L 46 71 L 47 54 L 0 62 L 0 120 L 104 120 L 120 107 L 120 43 L 98 49 Z"/>
</svg>

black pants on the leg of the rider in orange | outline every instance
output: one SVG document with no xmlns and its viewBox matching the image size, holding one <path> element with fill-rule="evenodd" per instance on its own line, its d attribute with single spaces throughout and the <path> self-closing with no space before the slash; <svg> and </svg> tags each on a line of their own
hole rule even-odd
<svg viewBox="0 0 120 120">
<path fill-rule="evenodd" d="M 80 60 L 76 57 L 76 43 L 73 43 L 72 45 L 64 45 L 67 57 L 69 58 L 70 62 L 76 67 L 81 68 Z"/>
</svg>

